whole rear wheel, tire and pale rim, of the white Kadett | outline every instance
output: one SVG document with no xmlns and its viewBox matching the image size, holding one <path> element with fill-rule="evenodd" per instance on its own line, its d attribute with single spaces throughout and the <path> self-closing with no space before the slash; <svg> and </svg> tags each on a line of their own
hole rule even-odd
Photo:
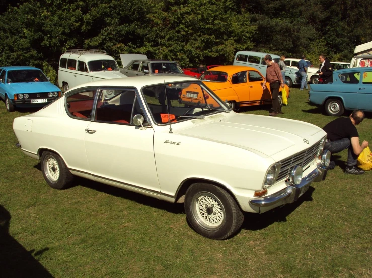
<svg viewBox="0 0 372 278">
<path fill-rule="evenodd" d="M 56 153 L 43 152 L 41 155 L 41 171 L 47 184 L 54 189 L 68 188 L 73 181 L 73 175 L 63 159 Z"/>
</svg>

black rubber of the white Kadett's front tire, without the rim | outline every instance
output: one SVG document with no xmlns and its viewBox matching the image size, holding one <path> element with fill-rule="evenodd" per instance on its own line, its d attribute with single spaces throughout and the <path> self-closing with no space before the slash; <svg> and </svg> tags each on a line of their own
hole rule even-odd
<svg viewBox="0 0 372 278">
<path fill-rule="evenodd" d="M 191 211 L 192 199 L 200 191 L 213 193 L 221 200 L 225 207 L 226 221 L 224 222 L 224 224 L 222 224 L 222 227 L 216 231 L 209 231 L 204 229 L 195 221 L 193 217 Z M 190 225 L 194 228 L 194 230 L 197 233 L 210 239 L 224 240 L 231 237 L 232 235 L 237 233 L 237 231 L 241 228 L 244 221 L 244 214 L 242 213 L 242 210 L 240 209 L 239 205 L 234 200 L 234 198 L 226 190 L 212 184 L 207 183 L 192 184 L 186 191 L 184 205 L 186 217 Z"/>
</svg>

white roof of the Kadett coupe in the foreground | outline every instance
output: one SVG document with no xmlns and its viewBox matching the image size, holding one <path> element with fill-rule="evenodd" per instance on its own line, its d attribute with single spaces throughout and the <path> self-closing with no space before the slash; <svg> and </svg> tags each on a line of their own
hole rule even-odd
<svg viewBox="0 0 372 278">
<path fill-rule="evenodd" d="M 194 77 L 191 76 L 173 76 L 172 74 L 167 75 L 150 75 L 150 76 L 135 76 L 135 77 L 128 77 L 128 78 L 113 78 L 113 79 L 105 79 L 101 81 L 94 81 L 88 82 L 81 85 L 74 87 L 82 88 L 82 87 L 137 87 L 141 88 L 144 86 L 149 85 L 156 85 L 156 84 L 165 84 L 165 83 L 173 83 L 173 82 L 184 82 L 184 81 L 199 81 Z"/>
</svg>

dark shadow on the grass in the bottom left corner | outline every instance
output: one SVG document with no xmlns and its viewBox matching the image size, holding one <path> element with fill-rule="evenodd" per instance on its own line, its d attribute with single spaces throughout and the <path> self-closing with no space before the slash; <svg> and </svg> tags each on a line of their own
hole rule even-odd
<svg viewBox="0 0 372 278">
<path fill-rule="evenodd" d="M 0 205 L 0 276 L 2 277 L 53 277 L 34 256 L 49 248 L 27 251 L 9 234 L 11 215 Z M 33 255 L 34 256 L 33 256 Z"/>
</svg>

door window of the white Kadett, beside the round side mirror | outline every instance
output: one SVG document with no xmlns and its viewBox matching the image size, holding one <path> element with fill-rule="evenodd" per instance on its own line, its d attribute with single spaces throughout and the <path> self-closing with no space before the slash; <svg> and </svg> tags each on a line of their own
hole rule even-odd
<svg viewBox="0 0 372 278">
<path fill-rule="evenodd" d="M 94 119 L 99 122 L 131 124 L 136 114 L 142 114 L 136 93 L 128 89 L 99 91 Z"/>
</svg>

